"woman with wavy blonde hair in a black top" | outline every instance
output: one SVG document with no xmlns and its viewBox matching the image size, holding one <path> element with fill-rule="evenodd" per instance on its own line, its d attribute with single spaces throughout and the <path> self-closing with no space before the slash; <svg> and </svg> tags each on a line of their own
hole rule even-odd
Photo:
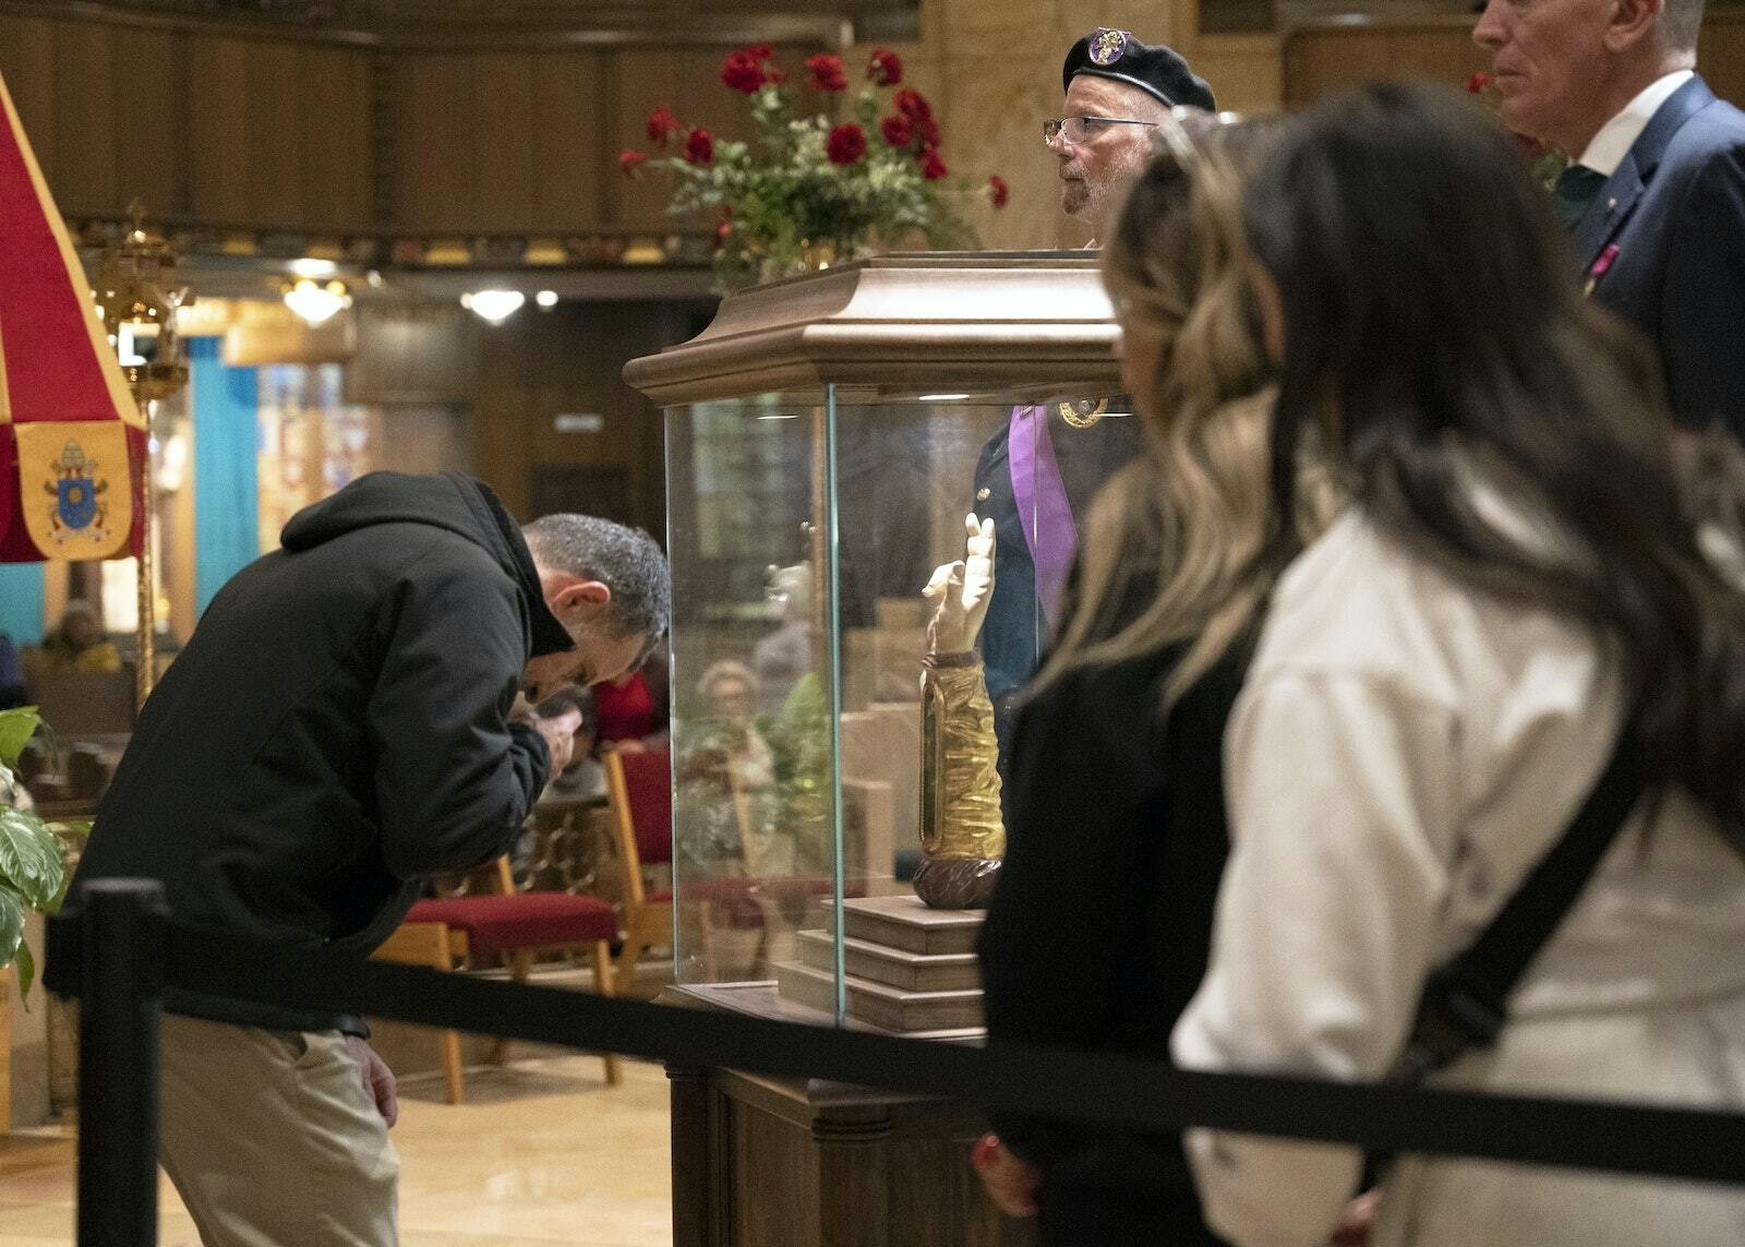
<svg viewBox="0 0 1745 1247">
<path fill-rule="evenodd" d="M 1269 582 L 1270 365 L 1242 243 L 1276 124 L 1173 119 L 1103 253 L 1145 454 L 1098 498 L 1012 741 L 981 938 L 993 1039 L 1164 1055 L 1206 968 L 1220 748 Z M 996 1120 L 977 1167 L 1050 1247 L 1215 1244 L 1181 1146 Z"/>
</svg>

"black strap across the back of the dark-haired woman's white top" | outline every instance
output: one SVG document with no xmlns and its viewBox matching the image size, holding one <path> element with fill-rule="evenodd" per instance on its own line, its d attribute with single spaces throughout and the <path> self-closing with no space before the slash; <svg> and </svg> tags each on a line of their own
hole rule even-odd
<svg viewBox="0 0 1745 1247">
<path fill-rule="evenodd" d="M 1588 885 L 1642 789 L 1642 751 L 1626 727 L 1564 837 L 1471 947 L 1431 973 L 1394 1069 L 1398 1079 L 1417 1081 L 1469 1048 L 1495 1043 L 1515 985 Z"/>
</svg>

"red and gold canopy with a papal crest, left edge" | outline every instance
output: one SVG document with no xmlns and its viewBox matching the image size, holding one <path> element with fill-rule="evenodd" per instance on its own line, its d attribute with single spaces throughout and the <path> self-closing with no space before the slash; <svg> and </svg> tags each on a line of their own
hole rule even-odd
<svg viewBox="0 0 1745 1247">
<path fill-rule="evenodd" d="M 145 419 L 0 80 L 0 562 L 143 540 Z"/>
</svg>

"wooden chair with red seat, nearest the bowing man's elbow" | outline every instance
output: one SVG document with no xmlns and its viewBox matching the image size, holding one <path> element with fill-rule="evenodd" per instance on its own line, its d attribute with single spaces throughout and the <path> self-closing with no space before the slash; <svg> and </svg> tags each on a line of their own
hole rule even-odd
<svg viewBox="0 0 1745 1247">
<path fill-rule="evenodd" d="M 618 938 L 618 913 L 597 896 L 571 892 L 517 892 L 510 859 L 496 863 L 496 896 L 438 896 L 412 905 L 407 920 L 377 950 L 384 961 L 408 961 L 452 969 L 459 957 L 501 954 L 510 973 L 525 983 L 536 952 L 569 950 L 583 945 L 593 952 L 593 982 L 612 996 L 611 941 Z M 496 1058 L 503 1055 L 497 1043 Z M 606 1081 L 618 1083 L 618 1057 L 604 1053 Z M 461 1102 L 461 1039 L 443 1032 L 443 1079 L 448 1102 Z"/>
</svg>

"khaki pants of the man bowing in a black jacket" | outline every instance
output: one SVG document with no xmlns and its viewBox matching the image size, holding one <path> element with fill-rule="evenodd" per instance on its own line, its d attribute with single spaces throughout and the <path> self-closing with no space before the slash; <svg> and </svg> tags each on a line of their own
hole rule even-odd
<svg viewBox="0 0 1745 1247">
<path fill-rule="evenodd" d="M 164 1016 L 161 1156 L 206 1247 L 393 1247 L 400 1156 L 346 1039 Z"/>
</svg>

